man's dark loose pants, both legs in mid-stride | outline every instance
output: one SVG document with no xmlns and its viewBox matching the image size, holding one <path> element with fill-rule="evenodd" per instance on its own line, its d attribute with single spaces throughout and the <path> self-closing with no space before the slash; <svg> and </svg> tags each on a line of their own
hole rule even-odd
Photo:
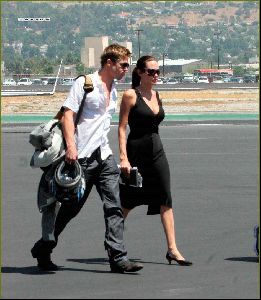
<svg viewBox="0 0 261 300">
<path fill-rule="evenodd" d="M 95 185 L 103 201 L 106 227 L 104 245 L 110 262 L 126 260 L 127 252 L 123 243 L 124 219 L 119 197 L 119 169 L 116 161 L 113 155 L 102 161 L 100 148 L 98 148 L 91 157 L 79 159 L 79 163 L 86 178 L 84 196 L 79 202 L 62 203 L 55 222 L 55 241 L 40 239 L 34 246 L 35 251 L 38 251 L 39 255 L 52 253 L 57 245 L 58 236 L 69 221 L 79 213 Z"/>
</svg>

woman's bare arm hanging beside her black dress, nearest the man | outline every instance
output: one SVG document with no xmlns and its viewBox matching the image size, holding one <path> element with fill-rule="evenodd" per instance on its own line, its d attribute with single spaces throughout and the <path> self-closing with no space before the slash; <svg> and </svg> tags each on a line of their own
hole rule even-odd
<svg viewBox="0 0 261 300">
<path fill-rule="evenodd" d="M 121 170 L 126 174 L 130 174 L 131 165 L 127 156 L 126 148 L 126 129 L 128 125 L 128 118 L 130 109 L 136 103 L 136 93 L 134 90 L 129 89 L 124 92 L 122 96 L 122 101 L 120 105 L 120 115 L 119 115 L 119 127 L 118 127 L 118 139 L 119 139 L 119 151 L 120 151 L 120 166 Z"/>
</svg>

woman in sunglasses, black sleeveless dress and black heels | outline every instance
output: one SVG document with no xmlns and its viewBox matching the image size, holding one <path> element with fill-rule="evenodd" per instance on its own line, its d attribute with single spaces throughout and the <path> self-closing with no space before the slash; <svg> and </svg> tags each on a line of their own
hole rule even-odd
<svg viewBox="0 0 261 300">
<path fill-rule="evenodd" d="M 153 85 L 160 71 L 156 59 L 143 56 L 132 73 L 132 89 L 124 92 L 120 106 L 119 150 L 122 172 L 129 176 L 131 167 L 138 167 L 143 177 L 142 188 L 120 185 L 124 218 L 131 209 L 148 205 L 148 215 L 160 214 L 166 235 L 169 264 L 189 266 L 179 252 L 175 240 L 174 216 L 170 192 L 170 172 L 158 133 L 164 119 L 161 100 Z M 126 143 L 126 128 L 130 133 Z"/>
</svg>

